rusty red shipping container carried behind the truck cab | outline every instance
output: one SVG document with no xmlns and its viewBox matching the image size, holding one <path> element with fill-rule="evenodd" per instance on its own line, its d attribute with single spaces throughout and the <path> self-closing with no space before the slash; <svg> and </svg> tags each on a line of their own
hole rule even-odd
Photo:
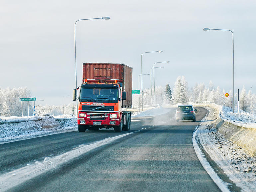
<svg viewBox="0 0 256 192">
<path fill-rule="evenodd" d="M 123 107 L 132 107 L 132 68 L 125 64 L 117 63 L 83 63 L 84 79 L 117 79 L 123 83 L 123 91 L 126 92 L 126 100 L 123 100 Z"/>
</svg>

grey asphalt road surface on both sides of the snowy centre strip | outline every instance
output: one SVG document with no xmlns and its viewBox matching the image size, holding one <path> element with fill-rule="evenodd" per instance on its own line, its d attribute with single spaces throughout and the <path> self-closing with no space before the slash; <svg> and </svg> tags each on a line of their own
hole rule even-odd
<svg viewBox="0 0 256 192">
<path fill-rule="evenodd" d="M 175 122 L 174 112 L 133 118 L 138 131 L 97 147 L 8 191 L 220 191 L 200 164 L 192 134 L 207 110 L 197 108 L 196 122 Z M 1 175 L 118 136 L 111 130 L 54 134 L 0 144 Z"/>
</svg>

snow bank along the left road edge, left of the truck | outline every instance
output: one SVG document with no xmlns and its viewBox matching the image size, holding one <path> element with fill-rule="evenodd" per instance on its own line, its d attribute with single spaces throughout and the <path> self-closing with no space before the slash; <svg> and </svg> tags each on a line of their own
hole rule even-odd
<svg viewBox="0 0 256 192">
<path fill-rule="evenodd" d="M 77 119 L 71 116 L 1 117 L 0 142 L 27 139 L 56 132 L 77 129 Z"/>
</svg>

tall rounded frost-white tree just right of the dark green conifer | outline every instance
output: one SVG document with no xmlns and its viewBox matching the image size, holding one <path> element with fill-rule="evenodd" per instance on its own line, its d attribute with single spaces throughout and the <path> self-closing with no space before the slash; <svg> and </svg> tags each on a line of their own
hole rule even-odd
<svg viewBox="0 0 256 192">
<path fill-rule="evenodd" d="M 188 82 L 185 80 L 185 77 L 177 77 L 173 88 L 173 103 L 187 102 L 188 95 Z"/>
</svg>

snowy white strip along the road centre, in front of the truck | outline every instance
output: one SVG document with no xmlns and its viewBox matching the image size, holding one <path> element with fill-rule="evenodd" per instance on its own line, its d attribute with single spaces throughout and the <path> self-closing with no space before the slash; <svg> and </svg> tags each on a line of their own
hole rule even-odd
<svg viewBox="0 0 256 192">
<path fill-rule="evenodd" d="M 10 189 L 11 187 L 17 186 L 27 180 L 30 180 L 31 178 L 34 178 L 42 173 L 56 168 L 57 166 L 60 166 L 70 161 L 71 159 L 77 158 L 80 155 L 83 155 L 95 148 L 109 144 L 119 138 L 125 137 L 133 133 L 135 132 L 126 133 L 111 138 L 105 138 L 101 141 L 97 141 L 89 145 L 80 145 L 59 156 L 51 158 L 46 157 L 41 162 L 35 161 L 33 164 L 0 175 L 0 191 L 8 191 L 8 189 Z"/>
</svg>

